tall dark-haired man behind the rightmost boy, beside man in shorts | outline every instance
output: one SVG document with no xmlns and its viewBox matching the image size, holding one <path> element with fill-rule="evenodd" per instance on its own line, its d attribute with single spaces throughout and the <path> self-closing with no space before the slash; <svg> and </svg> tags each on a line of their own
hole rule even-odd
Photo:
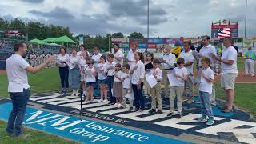
<svg viewBox="0 0 256 144">
<path fill-rule="evenodd" d="M 204 58 L 204 57 L 210 58 L 210 69 L 214 71 L 215 59 L 213 58 L 213 55 L 216 55 L 215 47 L 210 45 L 210 37 L 209 36 L 206 35 L 202 38 L 202 44 L 203 44 L 203 47 L 199 51 L 200 59 L 198 61 L 199 62 L 198 77 L 201 77 L 202 70 L 203 70 L 202 64 L 201 64 L 202 58 Z M 214 83 L 213 83 L 213 92 L 212 92 L 211 96 L 212 97 L 210 98 L 210 103 L 212 106 L 216 106 Z"/>
</svg>

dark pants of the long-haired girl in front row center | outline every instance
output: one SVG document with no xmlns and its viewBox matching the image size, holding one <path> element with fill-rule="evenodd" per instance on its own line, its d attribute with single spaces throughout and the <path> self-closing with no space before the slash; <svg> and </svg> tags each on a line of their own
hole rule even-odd
<svg viewBox="0 0 256 144">
<path fill-rule="evenodd" d="M 141 89 L 138 90 L 137 85 L 132 84 L 132 88 L 134 91 L 134 101 L 135 101 L 135 107 L 136 109 L 145 109 L 144 106 L 144 97 L 142 94 L 142 90 L 143 90 L 143 82 L 141 84 Z"/>
</svg>

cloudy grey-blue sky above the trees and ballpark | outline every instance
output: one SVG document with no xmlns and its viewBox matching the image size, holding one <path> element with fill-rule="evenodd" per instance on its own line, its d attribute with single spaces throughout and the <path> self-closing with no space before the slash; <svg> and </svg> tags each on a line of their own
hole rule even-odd
<svg viewBox="0 0 256 144">
<path fill-rule="evenodd" d="M 212 22 L 238 22 L 244 36 L 246 0 L 150 0 L 150 38 L 194 37 L 208 34 Z M 256 38 L 256 0 L 248 0 L 247 37 Z M 0 17 L 69 26 L 77 34 L 146 37 L 147 0 L 0 0 Z"/>
</svg>

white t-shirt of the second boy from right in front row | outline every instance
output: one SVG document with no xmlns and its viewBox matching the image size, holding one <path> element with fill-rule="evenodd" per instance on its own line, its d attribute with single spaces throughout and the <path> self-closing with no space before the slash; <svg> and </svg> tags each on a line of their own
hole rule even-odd
<svg viewBox="0 0 256 144">
<path fill-rule="evenodd" d="M 187 75 L 187 70 L 185 67 L 182 67 L 181 69 L 178 67 L 175 67 L 174 74 L 178 74 L 182 77 L 185 77 Z M 185 86 L 185 81 L 183 81 L 182 78 L 178 78 L 174 76 L 171 78 L 170 86 Z"/>
</svg>

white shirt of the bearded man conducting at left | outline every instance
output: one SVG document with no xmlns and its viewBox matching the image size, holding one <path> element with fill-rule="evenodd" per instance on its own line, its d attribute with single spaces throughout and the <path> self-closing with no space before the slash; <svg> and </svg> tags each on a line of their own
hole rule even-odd
<svg viewBox="0 0 256 144">
<path fill-rule="evenodd" d="M 30 65 L 19 54 L 13 54 L 6 59 L 8 92 L 23 92 L 23 89 L 30 88 L 25 70 L 27 66 Z"/>
</svg>

